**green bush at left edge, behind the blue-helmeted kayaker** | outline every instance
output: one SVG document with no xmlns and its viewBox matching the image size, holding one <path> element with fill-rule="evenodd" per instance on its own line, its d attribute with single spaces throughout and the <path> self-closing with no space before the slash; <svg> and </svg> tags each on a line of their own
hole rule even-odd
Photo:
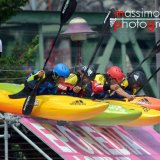
<svg viewBox="0 0 160 160">
<path fill-rule="evenodd" d="M 26 76 L 25 69 L 34 66 L 37 49 L 38 36 L 24 47 L 16 44 L 10 56 L 0 58 L 0 81 L 23 82 Z"/>
</svg>

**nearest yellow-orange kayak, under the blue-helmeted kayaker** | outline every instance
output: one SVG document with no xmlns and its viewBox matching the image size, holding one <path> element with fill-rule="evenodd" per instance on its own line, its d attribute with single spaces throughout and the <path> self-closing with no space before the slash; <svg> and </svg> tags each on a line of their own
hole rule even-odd
<svg viewBox="0 0 160 160">
<path fill-rule="evenodd" d="M 3 84 L 1 83 L 0 111 L 22 115 L 22 106 L 25 98 L 10 99 L 8 95 L 16 93 L 17 90 L 21 90 L 23 86 L 5 84 L 5 89 L 3 88 L 4 86 L 2 86 Z M 98 115 L 105 111 L 107 107 L 108 103 L 100 103 L 90 99 L 67 95 L 41 95 L 36 97 L 31 116 L 52 120 L 81 121 Z"/>
</svg>

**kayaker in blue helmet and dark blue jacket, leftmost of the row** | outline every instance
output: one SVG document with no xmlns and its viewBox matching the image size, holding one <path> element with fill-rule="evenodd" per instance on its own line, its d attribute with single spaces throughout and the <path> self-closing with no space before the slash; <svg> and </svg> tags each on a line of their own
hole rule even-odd
<svg viewBox="0 0 160 160">
<path fill-rule="evenodd" d="M 25 87 L 17 94 L 10 95 L 10 98 L 22 98 L 26 97 L 34 88 L 38 81 L 42 81 L 37 95 L 56 94 L 57 86 L 59 83 L 65 81 L 70 75 L 70 70 L 67 65 L 59 63 L 53 67 L 52 71 L 40 70 L 36 73 L 32 73 L 25 80 Z"/>
</svg>

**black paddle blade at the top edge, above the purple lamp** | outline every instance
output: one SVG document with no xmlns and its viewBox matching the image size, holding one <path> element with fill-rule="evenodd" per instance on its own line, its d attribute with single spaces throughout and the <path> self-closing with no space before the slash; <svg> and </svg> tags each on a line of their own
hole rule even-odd
<svg viewBox="0 0 160 160">
<path fill-rule="evenodd" d="M 61 9 L 61 25 L 65 24 L 73 15 L 77 6 L 76 0 L 65 0 Z"/>
</svg>

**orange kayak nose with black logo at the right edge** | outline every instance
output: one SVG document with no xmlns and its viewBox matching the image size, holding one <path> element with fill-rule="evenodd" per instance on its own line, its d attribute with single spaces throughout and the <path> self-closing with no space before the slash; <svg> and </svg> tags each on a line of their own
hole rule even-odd
<svg viewBox="0 0 160 160">
<path fill-rule="evenodd" d="M 144 107 L 149 107 L 160 111 L 160 99 L 158 98 L 139 96 L 136 97 L 133 101 L 131 101 L 131 103 L 140 104 Z"/>
</svg>

